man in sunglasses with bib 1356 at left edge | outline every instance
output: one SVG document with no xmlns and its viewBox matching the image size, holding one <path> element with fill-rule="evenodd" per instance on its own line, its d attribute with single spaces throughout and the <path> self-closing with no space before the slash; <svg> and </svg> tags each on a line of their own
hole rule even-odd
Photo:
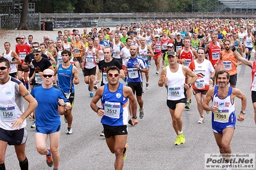
<svg viewBox="0 0 256 170">
<path fill-rule="evenodd" d="M 28 138 L 26 118 L 37 107 L 37 100 L 30 95 L 20 81 L 9 75 L 11 70 L 10 61 L 6 58 L 0 58 L 0 169 L 5 169 L 4 158 L 8 144 L 14 145 L 21 170 L 28 170 L 28 158 L 25 152 Z M 23 98 L 28 102 L 25 111 Z"/>
</svg>

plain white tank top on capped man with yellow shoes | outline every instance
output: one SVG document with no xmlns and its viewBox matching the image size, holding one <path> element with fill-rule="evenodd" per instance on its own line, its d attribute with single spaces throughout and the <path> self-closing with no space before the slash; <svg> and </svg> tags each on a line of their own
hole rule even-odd
<svg viewBox="0 0 256 170">
<path fill-rule="evenodd" d="M 166 67 L 167 81 L 167 100 L 180 100 L 185 98 L 184 83 L 185 75 L 182 71 L 182 65 L 178 65 L 177 72 L 171 72 L 169 66 Z"/>
</svg>

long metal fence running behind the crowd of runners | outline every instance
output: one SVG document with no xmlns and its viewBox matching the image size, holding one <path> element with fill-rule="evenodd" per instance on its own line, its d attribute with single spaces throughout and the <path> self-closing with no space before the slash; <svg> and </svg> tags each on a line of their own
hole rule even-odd
<svg viewBox="0 0 256 170">
<path fill-rule="evenodd" d="M 117 24 L 130 24 L 131 22 L 146 22 L 156 19 L 253 19 L 256 13 L 28 13 L 28 28 L 42 29 L 45 22 L 53 22 L 54 28 L 65 27 L 114 27 Z M 17 28 L 21 18 L 20 14 L 0 15 L 1 28 Z"/>
</svg>

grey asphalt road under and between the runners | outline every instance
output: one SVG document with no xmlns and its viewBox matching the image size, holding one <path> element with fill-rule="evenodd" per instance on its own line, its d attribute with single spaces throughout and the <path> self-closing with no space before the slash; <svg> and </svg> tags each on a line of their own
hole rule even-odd
<svg viewBox="0 0 256 170">
<path fill-rule="evenodd" d="M 253 58 L 252 58 L 253 59 Z M 231 147 L 232 153 L 255 153 L 255 122 L 251 100 L 251 69 L 238 67 L 237 88 L 248 97 L 246 116 L 236 124 Z M 166 105 L 166 89 L 157 85 L 159 75 L 151 62 L 149 89 L 142 95 L 144 118 L 135 127 L 128 126 L 128 152 L 123 169 L 204 169 L 205 153 L 219 153 L 211 128 L 211 115 L 205 113 L 205 123 L 198 124 L 200 115 L 196 100 L 192 96 L 191 109 L 182 114 L 183 132 L 186 142 L 175 146 L 176 134 L 171 124 L 171 116 Z M 60 169 L 114 169 L 114 154 L 110 153 L 105 137 L 99 133 L 103 129 L 100 118 L 90 109 L 89 91 L 79 72 L 80 84 L 75 86 L 73 108 L 74 134 L 66 135 L 67 123 L 62 116 L 60 139 Z M 122 81 L 123 82 L 123 81 Z M 145 85 L 144 85 L 145 86 Z M 94 91 L 95 93 L 95 91 Z M 237 114 L 241 111 L 240 100 L 235 100 Z M 139 114 L 139 109 L 138 109 Z M 35 132 L 28 123 L 26 155 L 30 169 L 53 169 L 47 167 L 46 157 L 39 155 L 35 148 Z M 47 141 L 49 146 L 49 141 Z M 19 169 L 19 162 L 13 146 L 8 146 L 5 158 L 6 169 Z"/>
</svg>

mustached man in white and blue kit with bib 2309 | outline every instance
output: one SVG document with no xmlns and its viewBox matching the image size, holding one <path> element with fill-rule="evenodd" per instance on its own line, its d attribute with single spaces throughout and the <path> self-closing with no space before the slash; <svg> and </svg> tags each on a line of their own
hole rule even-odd
<svg viewBox="0 0 256 170">
<path fill-rule="evenodd" d="M 244 120 L 246 108 L 246 96 L 237 88 L 228 86 L 230 75 L 225 70 L 217 73 L 218 86 L 210 88 L 203 101 L 203 109 L 212 111 L 212 130 L 219 151 L 225 158 L 225 166 L 230 166 L 231 155 L 230 142 L 235 130 L 235 97 L 241 99 L 241 112 L 237 116 L 238 121 Z M 212 106 L 209 102 L 212 100 Z M 224 154 L 225 153 L 225 154 Z M 229 155 L 229 156 L 228 156 Z"/>
</svg>

